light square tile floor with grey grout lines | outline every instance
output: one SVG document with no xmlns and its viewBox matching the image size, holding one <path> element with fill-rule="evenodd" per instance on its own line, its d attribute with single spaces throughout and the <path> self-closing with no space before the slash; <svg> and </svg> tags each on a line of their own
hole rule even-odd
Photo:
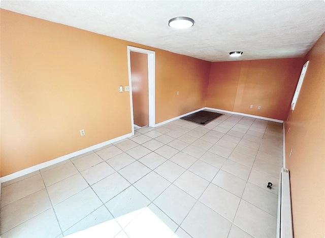
<svg viewBox="0 0 325 238">
<path fill-rule="evenodd" d="M 281 165 L 280 123 L 140 128 L 3 183 L 1 237 L 275 237 Z"/>
</svg>

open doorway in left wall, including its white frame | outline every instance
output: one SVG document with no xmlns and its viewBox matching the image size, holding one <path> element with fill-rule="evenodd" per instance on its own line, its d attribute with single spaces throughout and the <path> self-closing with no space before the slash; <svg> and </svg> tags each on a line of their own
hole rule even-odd
<svg viewBox="0 0 325 238">
<path fill-rule="evenodd" d="M 147 65 L 144 65 L 144 61 L 137 62 L 137 59 L 143 60 L 144 57 Z M 133 58 L 135 60 L 132 61 Z M 132 134 L 134 134 L 135 126 L 142 127 L 147 124 L 155 127 L 155 52 L 127 46 L 127 63 Z M 146 77 L 141 76 L 141 74 L 145 75 L 144 73 L 147 73 L 147 82 L 144 82 Z"/>
</svg>

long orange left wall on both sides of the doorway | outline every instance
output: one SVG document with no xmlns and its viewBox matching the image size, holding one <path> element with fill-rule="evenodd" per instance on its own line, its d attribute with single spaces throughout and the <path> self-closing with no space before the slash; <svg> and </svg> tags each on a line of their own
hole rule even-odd
<svg viewBox="0 0 325 238">
<path fill-rule="evenodd" d="M 0 20 L 1 176 L 132 131 L 118 92 L 127 45 L 156 52 L 156 123 L 205 106 L 210 62 L 3 9 Z"/>
</svg>

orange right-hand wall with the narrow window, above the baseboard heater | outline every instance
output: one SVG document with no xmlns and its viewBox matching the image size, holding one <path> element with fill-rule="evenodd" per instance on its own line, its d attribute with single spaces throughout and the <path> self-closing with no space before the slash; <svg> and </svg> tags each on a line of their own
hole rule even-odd
<svg viewBox="0 0 325 238">
<path fill-rule="evenodd" d="M 285 122 L 295 237 L 325 236 L 325 33 L 305 57 L 308 69 Z M 288 129 L 290 131 L 288 132 Z M 293 154 L 289 153 L 293 149 Z"/>
</svg>

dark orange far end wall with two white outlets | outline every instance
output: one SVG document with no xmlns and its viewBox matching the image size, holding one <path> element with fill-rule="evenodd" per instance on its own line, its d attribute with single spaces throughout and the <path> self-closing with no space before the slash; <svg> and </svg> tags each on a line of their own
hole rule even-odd
<svg viewBox="0 0 325 238">
<path fill-rule="evenodd" d="M 213 62 L 207 107 L 285 120 L 302 65 L 302 58 Z"/>
</svg>

